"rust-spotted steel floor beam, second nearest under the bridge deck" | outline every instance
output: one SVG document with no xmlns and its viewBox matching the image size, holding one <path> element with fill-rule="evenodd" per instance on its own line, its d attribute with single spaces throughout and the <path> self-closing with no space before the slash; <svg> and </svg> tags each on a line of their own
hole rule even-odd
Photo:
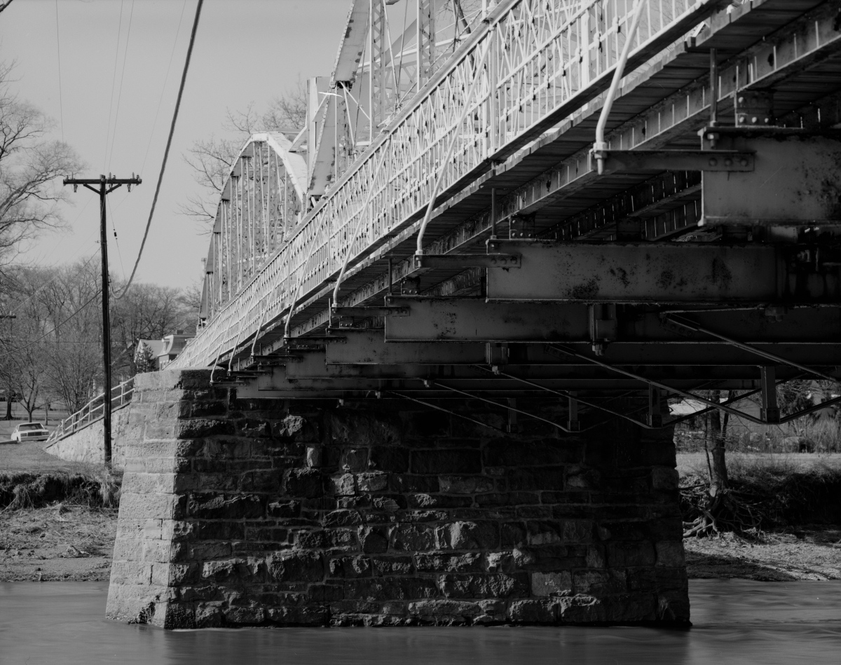
<svg viewBox="0 0 841 665">
<path fill-rule="evenodd" d="M 500 242 L 517 271 L 488 271 L 490 301 L 839 304 L 837 261 L 813 266 L 801 245 Z M 803 252 L 806 251 L 806 254 Z"/>
</svg>

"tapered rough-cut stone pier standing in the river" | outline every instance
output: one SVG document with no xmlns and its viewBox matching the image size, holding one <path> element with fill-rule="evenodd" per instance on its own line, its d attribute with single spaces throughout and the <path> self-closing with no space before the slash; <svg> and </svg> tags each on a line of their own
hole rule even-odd
<svg viewBox="0 0 841 665">
<path fill-rule="evenodd" d="M 237 399 L 209 377 L 135 380 L 108 617 L 688 623 L 671 430 L 506 435 L 395 399 Z"/>
</svg>

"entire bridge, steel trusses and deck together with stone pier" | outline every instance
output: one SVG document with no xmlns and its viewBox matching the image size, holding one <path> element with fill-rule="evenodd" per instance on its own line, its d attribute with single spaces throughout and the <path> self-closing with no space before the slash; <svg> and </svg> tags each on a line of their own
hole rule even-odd
<svg viewBox="0 0 841 665">
<path fill-rule="evenodd" d="M 837 2 L 355 0 L 137 378 L 108 614 L 685 623 L 668 399 L 841 377 L 839 129 Z"/>
</svg>

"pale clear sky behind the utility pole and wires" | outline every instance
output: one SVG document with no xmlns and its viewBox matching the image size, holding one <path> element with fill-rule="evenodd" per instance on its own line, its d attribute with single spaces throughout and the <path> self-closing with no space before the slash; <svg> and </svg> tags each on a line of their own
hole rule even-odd
<svg viewBox="0 0 841 665">
<path fill-rule="evenodd" d="M 205 0 L 137 281 L 187 288 L 203 277 L 209 236 L 178 211 L 201 193 L 182 155 L 196 140 L 230 136 L 226 109 L 260 111 L 299 77 L 329 76 L 350 5 Z M 16 62 L 11 89 L 77 150 L 87 169 L 76 176 L 143 178 L 131 193 L 108 196 L 108 261 L 120 278 L 140 249 L 195 8 L 196 0 L 13 0 L 0 13 L 0 60 Z M 79 187 L 62 214 L 65 230 L 41 234 L 19 261 L 60 265 L 99 251 L 96 194 Z"/>
</svg>

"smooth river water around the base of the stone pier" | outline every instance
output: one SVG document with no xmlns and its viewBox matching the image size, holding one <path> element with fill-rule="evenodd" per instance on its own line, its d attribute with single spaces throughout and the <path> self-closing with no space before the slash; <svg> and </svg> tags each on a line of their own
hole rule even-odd
<svg viewBox="0 0 841 665">
<path fill-rule="evenodd" d="M 693 627 L 162 631 L 103 619 L 106 583 L 0 583 L 2 665 L 841 663 L 841 581 L 690 582 Z"/>
</svg>

